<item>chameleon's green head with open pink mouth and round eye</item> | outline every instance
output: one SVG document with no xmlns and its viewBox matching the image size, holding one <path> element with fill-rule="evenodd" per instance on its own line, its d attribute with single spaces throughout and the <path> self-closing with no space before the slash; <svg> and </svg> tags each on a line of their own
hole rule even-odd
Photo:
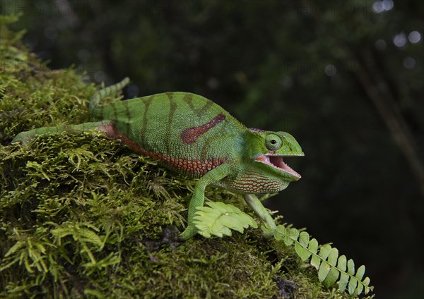
<svg viewBox="0 0 424 299">
<path fill-rule="evenodd" d="M 249 129 L 254 142 L 250 145 L 250 157 L 257 167 L 278 176 L 283 181 L 298 181 L 300 174 L 284 163 L 284 157 L 302 157 L 305 154 L 292 135 L 285 132 L 272 132 Z M 252 137 L 253 137 L 252 136 Z"/>
</svg>

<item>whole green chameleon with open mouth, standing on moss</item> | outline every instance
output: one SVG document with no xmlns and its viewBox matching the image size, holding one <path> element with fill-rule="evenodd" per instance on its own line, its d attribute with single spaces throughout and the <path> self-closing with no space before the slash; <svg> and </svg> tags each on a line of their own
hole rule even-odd
<svg viewBox="0 0 424 299">
<path fill-rule="evenodd" d="M 261 221 L 271 231 L 276 229 L 257 194 L 279 192 L 300 179 L 283 161 L 284 157 L 304 156 L 292 135 L 247 128 L 218 104 L 190 92 L 100 104 L 128 84 L 129 78 L 124 78 L 93 94 L 89 111 L 94 122 L 35 128 L 18 133 L 12 142 L 28 143 L 36 135 L 69 130 L 99 130 L 167 169 L 199 178 L 189 202 L 187 228 L 180 234 L 184 240 L 198 232 L 194 214 L 204 205 L 208 185 L 242 194 Z"/>
</svg>

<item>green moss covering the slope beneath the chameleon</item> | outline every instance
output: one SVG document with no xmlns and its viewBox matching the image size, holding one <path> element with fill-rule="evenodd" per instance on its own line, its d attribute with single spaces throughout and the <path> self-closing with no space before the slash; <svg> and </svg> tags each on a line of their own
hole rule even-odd
<svg viewBox="0 0 424 299">
<path fill-rule="evenodd" d="M 28 53 L 22 32 L 5 27 L 12 20 L 0 19 L 0 296 L 348 298 L 259 229 L 177 241 L 194 182 L 116 140 L 67 133 L 9 145 L 21 130 L 89 121 L 95 92 Z M 206 197 L 248 212 L 228 191 Z"/>
</svg>

